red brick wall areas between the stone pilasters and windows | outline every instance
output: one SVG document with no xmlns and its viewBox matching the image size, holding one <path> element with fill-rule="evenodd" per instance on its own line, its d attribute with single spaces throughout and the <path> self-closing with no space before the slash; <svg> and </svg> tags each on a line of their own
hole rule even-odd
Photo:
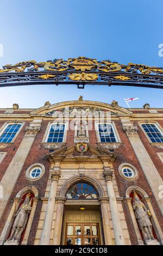
<svg viewBox="0 0 163 256">
<path fill-rule="evenodd" d="M 49 123 L 50 120 L 45 120 L 42 122 L 41 125 L 41 131 L 36 135 L 35 137 L 35 141 L 32 145 L 32 148 L 29 152 L 29 155 L 27 157 L 26 162 L 24 163 L 22 172 L 17 180 L 17 184 L 14 187 L 14 190 L 12 191 L 11 194 L 11 198 L 7 204 L 7 207 L 5 209 L 4 215 L 2 217 L 2 221 L 0 222 L 0 233 L 4 227 L 4 223 L 7 220 L 9 211 L 11 209 L 13 200 L 12 198 L 14 198 L 17 194 L 18 191 L 20 191 L 23 187 L 28 186 L 28 185 L 33 185 L 37 188 L 37 190 L 39 191 L 39 197 L 43 197 L 45 194 L 45 190 L 46 190 L 46 185 L 47 185 L 47 179 L 48 179 L 48 174 L 49 174 L 49 162 L 47 160 L 47 155 L 49 154 L 49 150 L 43 148 L 43 146 L 40 144 L 40 142 L 42 142 L 42 138 L 45 135 L 45 131 L 47 129 L 47 125 Z M 114 121 L 114 120 L 113 120 Z M 160 125 L 163 127 L 163 121 L 159 121 Z M 4 121 L 0 122 L 0 127 L 4 124 Z M 2 176 L 5 172 L 5 170 L 7 169 L 7 167 L 9 166 L 9 163 L 12 159 L 12 157 L 15 155 L 17 148 L 19 147 L 24 135 L 25 135 L 25 128 L 26 126 L 28 126 L 29 123 L 26 122 L 26 124 L 24 124 L 24 126 L 22 127 L 20 133 L 18 134 L 18 136 L 16 137 L 14 144 L 9 145 L 7 148 L 1 150 L 4 152 L 7 152 L 7 155 L 5 156 L 3 162 L 1 163 L 1 172 L 0 172 L 0 179 L 2 179 Z M 159 220 L 159 223 L 161 225 L 161 227 L 163 228 L 163 223 L 162 223 L 162 216 L 160 214 L 160 210 L 155 202 L 155 199 L 153 197 L 153 193 L 151 192 L 150 187 L 148 186 L 148 183 L 145 179 L 145 176 L 141 170 L 140 164 L 137 161 L 137 158 L 134 154 L 133 148 L 131 147 L 128 137 L 126 136 L 126 133 L 122 131 L 122 126 L 121 126 L 121 121 L 120 120 L 115 120 L 115 125 L 117 127 L 118 133 L 120 135 L 121 141 L 124 143 L 122 146 L 120 146 L 120 148 L 115 149 L 114 150 L 114 154 L 116 155 L 116 161 L 114 163 L 114 168 L 115 168 L 115 176 L 116 176 L 116 180 L 117 180 L 117 186 L 118 186 L 118 190 L 120 192 L 120 196 L 121 197 L 125 197 L 125 193 L 126 190 L 129 186 L 131 185 L 136 185 L 141 187 L 143 190 L 146 191 L 146 193 L 148 194 L 148 196 L 151 198 L 152 200 L 152 206 L 154 208 L 156 217 Z M 160 175 L 162 175 L 162 163 L 159 159 L 159 157 L 156 155 L 157 152 L 161 152 L 160 149 L 153 147 L 152 145 L 149 144 L 148 139 L 146 138 L 145 134 L 143 133 L 143 131 L 141 130 L 141 128 L 139 127 L 139 125 L 137 124 L 137 122 L 134 122 L 134 125 L 137 125 L 139 128 L 139 136 L 141 138 L 142 143 L 145 145 L 145 148 L 148 151 L 149 156 L 151 156 L 151 159 L 153 160 L 156 168 L 158 169 Z M 90 136 L 90 144 L 93 146 L 96 146 L 97 143 L 97 137 L 96 137 L 96 131 L 95 131 L 95 127 L 93 124 L 93 130 L 89 131 L 89 136 Z M 67 147 L 70 147 L 71 145 L 74 144 L 74 131 L 68 130 L 67 131 Z M 14 150 L 15 148 L 15 150 Z M 33 163 L 42 163 L 45 165 L 46 171 L 45 174 L 42 176 L 41 179 L 37 180 L 37 181 L 29 181 L 26 179 L 26 170 L 27 168 L 33 164 Z M 134 181 L 128 181 L 126 179 L 124 179 L 118 172 L 118 166 L 120 166 L 121 163 L 123 162 L 128 162 L 133 164 L 136 169 L 139 172 L 139 177 L 134 180 Z M 130 235 L 130 239 L 131 239 L 131 243 L 133 245 L 137 244 L 137 239 L 136 239 L 136 235 L 134 233 L 134 227 L 133 227 L 133 223 L 131 221 L 131 217 L 130 217 L 130 212 L 128 209 L 128 205 L 126 200 L 124 199 L 122 202 L 123 205 L 123 210 L 124 210 L 124 214 L 126 216 L 126 221 L 127 221 L 127 226 L 129 229 L 129 235 Z M 34 238 L 35 238 L 35 234 L 36 234 L 36 228 L 37 228 L 37 224 L 39 222 L 39 217 L 40 217 L 40 212 L 41 212 L 41 206 L 42 206 L 42 201 L 41 199 L 39 199 L 38 203 L 37 203 L 37 207 L 36 207 L 36 211 L 35 211 L 35 215 L 34 215 L 34 221 L 32 223 L 32 228 L 30 230 L 30 234 L 29 234 L 29 241 L 28 243 L 30 245 L 32 245 L 34 243 Z"/>
</svg>

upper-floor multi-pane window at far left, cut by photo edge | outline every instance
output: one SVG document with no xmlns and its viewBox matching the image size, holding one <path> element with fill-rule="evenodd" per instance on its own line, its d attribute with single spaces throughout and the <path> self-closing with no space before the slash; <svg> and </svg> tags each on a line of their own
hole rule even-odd
<svg viewBox="0 0 163 256">
<path fill-rule="evenodd" d="M 18 130 L 20 130 L 21 124 L 8 124 L 7 127 L 0 134 L 0 143 L 10 143 L 14 139 Z"/>
</svg>

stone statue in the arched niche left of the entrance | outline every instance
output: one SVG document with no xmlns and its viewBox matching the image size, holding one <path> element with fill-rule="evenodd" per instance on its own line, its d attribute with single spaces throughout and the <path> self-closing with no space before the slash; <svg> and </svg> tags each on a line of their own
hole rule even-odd
<svg viewBox="0 0 163 256">
<path fill-rule="evenodd" d="M 17 243 L 20 242 L 23 230 L 26 228 L 28 215 L 30 214 L 30 211 L 32 209 L 31 203 L 32 203 L 32 198 L 30 199 L 30 193 L 28 193 L 23 204 L 20 206 L 20 208 L 17 210 L 16 214 L 14 215 L 14 217 L 16 218 L 12 225 L 11 235 L 8 241 L 12 240 L 12 241 L 17 241 Z"/>
</svg>

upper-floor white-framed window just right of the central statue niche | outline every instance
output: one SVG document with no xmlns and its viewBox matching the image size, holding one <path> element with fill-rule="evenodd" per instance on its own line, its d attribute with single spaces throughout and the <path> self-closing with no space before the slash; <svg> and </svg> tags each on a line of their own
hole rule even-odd
<svg viewBox="0 0 163 256">
<path fill-rule="evenodd" d="M 100 142 L 117 142 L 118 141 L 112 124 L 100 123 L 100 124 L 97 124 L 97 126 L 98 126 L 98 135 L 99 135 Z"/>
</svg>

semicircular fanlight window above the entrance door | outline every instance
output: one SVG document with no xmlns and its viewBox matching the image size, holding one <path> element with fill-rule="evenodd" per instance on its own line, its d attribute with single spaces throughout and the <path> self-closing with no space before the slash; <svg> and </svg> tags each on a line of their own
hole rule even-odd
<svg viewBox="0 0 163 256">
<path fill-rule="evenodd" d="M 97 199 L 98 194 L 92 185 L 85 182 L 73 184 L 66 194 L 67 199 Z"/>
</svg>

